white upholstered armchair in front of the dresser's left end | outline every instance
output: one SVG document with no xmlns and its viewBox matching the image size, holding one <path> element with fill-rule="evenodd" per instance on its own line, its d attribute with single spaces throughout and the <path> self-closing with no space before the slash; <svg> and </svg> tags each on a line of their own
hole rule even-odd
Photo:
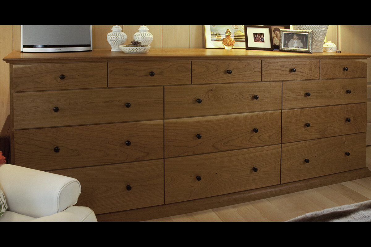
<svg viewBox="0 0 371 247">
<path fill-rule="evenodd" d="M 81 193 L 75 178 L 0 164 L 7 210 L 0 221 L 97 221 L 88 207 L 73 206 Z"/>
</svg>

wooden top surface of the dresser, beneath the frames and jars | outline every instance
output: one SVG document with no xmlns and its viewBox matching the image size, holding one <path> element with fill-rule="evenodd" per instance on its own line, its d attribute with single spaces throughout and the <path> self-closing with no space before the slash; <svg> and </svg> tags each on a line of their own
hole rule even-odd
<svg viewBox="0 0 371 247">
<path fill-rule="evenodd" d="M 370 57 L 371 55 L 367 54 L 345 52 L 298 53 L 278 50 L 152 48 L 148 53 L 143 54 L 129 54 L 122 51 L 111 51 L 109 49 L 93 49 L 92 51 L 67 53 L 22 53 L 20 51 L 12 51 L 3 60 L 6 63 L 25 64 L 209 59 L 368 59 Z"/>
</svg>

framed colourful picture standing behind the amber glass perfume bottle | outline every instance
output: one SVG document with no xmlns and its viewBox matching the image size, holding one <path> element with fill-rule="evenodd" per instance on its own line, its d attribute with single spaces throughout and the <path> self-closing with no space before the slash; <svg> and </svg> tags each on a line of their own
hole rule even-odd
<svg viewBox="0 0 371 247">
<path fill-rule="evenodd" d="M 243 25 L 241 26 L 204 26 L 205 30 L 205 48 L 223 48 L 221 39 L 226 37 L 226 31 L 229 29 L 234 39 L 235 48 L 245 49 L 245 34 Z"/>
</svg>

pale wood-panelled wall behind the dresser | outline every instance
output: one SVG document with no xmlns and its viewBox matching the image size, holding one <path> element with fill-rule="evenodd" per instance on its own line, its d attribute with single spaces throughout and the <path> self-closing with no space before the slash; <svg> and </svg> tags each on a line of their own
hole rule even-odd
<svg viewBox="0 0 371 247">
<path fill-rule="evenodd" d="M 111 48 L 106 36 L 114 25 L 93 25 L 93 49 Z M 127 34 L 127 44 L 141 25 L 120 25 Z M 201 25 L 148 25 L 155 48 L 203 48 L 204 32 Z M 371 54 L 371 26 L 341 26 L 343 52 Z M 329 26 L 327 41 L 336 43 L 336 26 Z M 0 128 L 10 113 L 9 64 L 2 59 L 12 50 L 20 50 L 20 25 L 0 25 Z M 368 114 L 367 144 L 371 145 L 371 60 L 368 61 Z"/>
</svg>

